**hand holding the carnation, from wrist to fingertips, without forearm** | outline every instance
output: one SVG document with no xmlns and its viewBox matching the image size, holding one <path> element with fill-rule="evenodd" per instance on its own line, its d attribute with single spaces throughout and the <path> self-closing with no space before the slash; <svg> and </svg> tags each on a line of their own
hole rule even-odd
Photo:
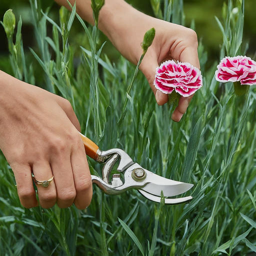
<svg viewBox="0 0 256 256">
<path fill-rule="evenodd" d="M 196 33 L 192 29 L 159 19 L 154 20 L 155 37 L 141 62 L 140 69 L 154 92 L 156 102 L 163 105 L 168 101 L 168 94 L 156 89 L 153 84 L 156 66 L 165 60 L 173 59 L 188 62 L 199 69 L 198 43 Z M 180 97 L 178 105 L 172 113 L 172 120 L 179 121 L 181 119 L 192 97 L 193 94 L 188 97 Z"/>
</svg>

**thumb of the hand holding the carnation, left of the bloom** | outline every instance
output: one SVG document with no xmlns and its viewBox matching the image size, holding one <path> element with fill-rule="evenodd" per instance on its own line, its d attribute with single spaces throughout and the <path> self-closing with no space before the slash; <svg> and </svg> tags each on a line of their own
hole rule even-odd
<svg viewBox="0 0 256 256">
<path fill-rule="evenodd" d="M 158 105 L 163 105 L 168 101 L 168 94 L 161 92 L 160 90 L 156 89 L 154 86 L 154 76 L 155 76 L 155 69 L 159 66 L 157 62 L 157 57 L 154 51 L 147 50 L 139 69 L 145 75 L 153 93 L 155 96 L 155 100 Z"/>
</svg>

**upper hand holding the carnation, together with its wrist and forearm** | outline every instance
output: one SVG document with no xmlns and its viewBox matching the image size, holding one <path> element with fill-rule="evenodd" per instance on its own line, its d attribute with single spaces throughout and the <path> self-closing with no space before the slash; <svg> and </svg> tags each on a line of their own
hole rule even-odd
<svg viewBox="0 0 256 256">
<path fill-rule="evenodd" d="M 140 43 L 143 41 L 145 32 L 152 27 L 155 28 L 153 43 L 147 49 L 139 68 L 147 78 L 159 105 L 168 101 L 168 94 L 157 90 L 153 84 L 155 69 L 160 63 L 174 59 L 180 62 L 189 62 L 200 68 L 197 55 L 197 36 L 192 29 L 147 16 L 120 0 L 106 2 L 100 15 L 99 21 L 102 21 L 99 25 L 102 31 L 106 33 L 121 54 L 134 64 L 137 64 L 142 54 Z M 108 21 L 103 23 L 103 20 Z M 174 121 L 181 119 L 192 96 L 180 97 L 178 105 L 172 113 Z"/>
</svg>

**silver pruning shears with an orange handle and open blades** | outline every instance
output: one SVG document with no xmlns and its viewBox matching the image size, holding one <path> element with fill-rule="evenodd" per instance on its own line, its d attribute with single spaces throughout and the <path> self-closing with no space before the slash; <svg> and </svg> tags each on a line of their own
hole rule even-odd
<svg viewBox="0 0 256 256">
<path fill-rule="evenodd" d="M 178 204 L 188 202 L 192 196 L 180 198 L 166 198 L 182 194 L 189 190 L 193 184 L 175 181 L 161 177 L 134 163 L 130 156 L 119 148 L 102 151 L 89 138 L 80 133 L 86 154 L 99 163 L 105 163 L 102 168 L 102 179 L 91 175 L 92 183 L 95 183 L 104 193 L 114 195 L 120 194 L 128 189 L 137 189 L 144 197 L 151 201 L 160 202 L 161 191 L 165 197 L 165 204 Z M 120 174 L 113 174 L 109 180 L 114 164 L 118 161 L 117 171 L 123 173 L 124 182 Z"/>
</svg>

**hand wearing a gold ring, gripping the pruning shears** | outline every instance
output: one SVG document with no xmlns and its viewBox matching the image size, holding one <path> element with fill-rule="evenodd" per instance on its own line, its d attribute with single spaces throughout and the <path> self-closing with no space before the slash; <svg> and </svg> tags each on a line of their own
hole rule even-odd
<svg viewBox="0 0 256 256">
<path fill-rule="evenodd" d="M 37 180 L 54 175 L 47 187 L 36 185 L 41 207 L 56 202 L 61 208 L 88 206 L 91 176 L 70 103 L 2 71 L 0 87 L 0 148 L 14 173 L 21 204 L 38 205 L 32 171 Z"/>
</svg>

